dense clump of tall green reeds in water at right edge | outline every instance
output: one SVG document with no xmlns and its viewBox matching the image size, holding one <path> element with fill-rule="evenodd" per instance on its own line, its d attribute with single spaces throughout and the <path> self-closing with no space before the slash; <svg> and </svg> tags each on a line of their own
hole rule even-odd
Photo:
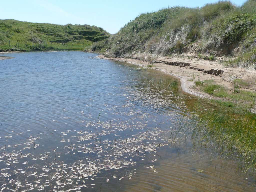
<svg viewBox="0 0 256 192">
<path fill-rule="evenodd" d="M 200 111 L 200 110 L 199 110 Z M 240 157 L 243 171 L 256 166 L 256 115 L 227 114 L 216 110 L 194 112 L 183 119 L 195 148 L 213 147 L 213 154 Z"/>
</svg>

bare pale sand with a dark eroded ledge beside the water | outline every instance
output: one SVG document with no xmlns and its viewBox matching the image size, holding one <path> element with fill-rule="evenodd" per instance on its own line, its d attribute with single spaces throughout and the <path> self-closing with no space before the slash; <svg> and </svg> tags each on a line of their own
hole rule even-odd
<svg viewBox="0 0 256 192">
<path fill-rule="evenodd" d="M 135 57 L 127 58 L 106 58 L 99 55 L 101 59 L 111 59 L 123 62 L 133 63 L 147 67 L 150 63 L 136 59 Z M 256 71 L 240 69 L 240 68 L 224 68 L 223 65 L 217 61 L 193 60 L 185 58 L 158 58 L 150 67 L 156 70 L 163 71 L 181 81 L 182 90 L 186 93 L 196 95 L 203 98 L 215 98 L 207 93 L 195 89 L 194 80 L 211 80 L 215 84 L 225 86 L 228 91 L 233 90 L 233 79 L 240 78 L 248 83 L 245 88 L 248 91 L 256 90 Z M 216 99 L 216 98 L 215 98 Z"/>
</svg>

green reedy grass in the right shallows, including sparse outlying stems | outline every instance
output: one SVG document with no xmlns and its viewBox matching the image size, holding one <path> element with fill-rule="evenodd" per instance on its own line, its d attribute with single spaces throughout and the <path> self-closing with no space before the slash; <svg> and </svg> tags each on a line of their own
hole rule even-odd
<svg viewBox="0 0 256 192">
<path fill-rule="evenodd" d="M 237 159 L 247 172 L 256 166 L 256 114 L 248 111 L 234 113 L 235 104 L 229 101 L 211 100 L 212 106 L 205 109 L 206 102 L 196 102 L 192 112 L 178 115 L 172 130 L 191 137 L 195 151 L 202 148 L 213 156 Z M 209 104 L 209 103 L 207 103 Z M 173 131 L 172 131 L 173 132 Z M 171 134 L 174 140 L 177 134 Z M 182 138 L 182 137 L 181 137 Z M 180 141 L 181 142 L 181 141 Z"/>
</svg>

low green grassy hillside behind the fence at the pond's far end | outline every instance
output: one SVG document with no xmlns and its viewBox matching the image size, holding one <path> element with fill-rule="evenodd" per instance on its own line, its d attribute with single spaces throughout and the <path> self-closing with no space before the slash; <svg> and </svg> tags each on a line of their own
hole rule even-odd
<svg viewBox="0 0 256 192">
<path fill-rule="evenodd" d="M 109 37 L 100 27 L 0 20 L 0 51 L 83 50 Z M 33 46 L 34 45 L 34 46 Z"/>
</svg>

